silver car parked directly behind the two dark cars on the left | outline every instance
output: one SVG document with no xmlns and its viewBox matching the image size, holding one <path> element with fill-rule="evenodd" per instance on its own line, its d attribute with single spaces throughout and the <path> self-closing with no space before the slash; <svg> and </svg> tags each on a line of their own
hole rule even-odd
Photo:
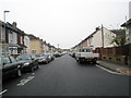
<svg viewBox="0 0 131 98">
<path fill-rule="evenodd" d="M 38 63 L 49 63 L 50 62 L 50 58 L 47 54 L 36 54 L 36 57 L 38 58 Z"/>
</svg>

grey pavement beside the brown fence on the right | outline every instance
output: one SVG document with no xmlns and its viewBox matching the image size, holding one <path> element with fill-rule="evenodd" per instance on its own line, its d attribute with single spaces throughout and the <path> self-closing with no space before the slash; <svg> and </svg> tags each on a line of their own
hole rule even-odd
<svg viewBox="0 0 131 98">
<path fill-rule="evenodd" d="M 99 64 L 100 66 L 104 66 L 106 69 L 116 71 L 118 73 L 122 73 L 126 75 L 131 75 L 131 66 L 129 68 L 129 65 L 120 65 L 120 64 L 116 64 L 116 63 L 111 63 L 111 62 L 107 62 L 107 61 L 97 61 L 97 64 Z"/>
</svg>

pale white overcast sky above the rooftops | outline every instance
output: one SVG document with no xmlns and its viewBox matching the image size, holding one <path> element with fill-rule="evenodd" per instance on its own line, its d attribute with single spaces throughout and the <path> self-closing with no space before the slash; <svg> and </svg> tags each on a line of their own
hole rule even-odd
<svg viewBox="0 0 131 98">
<path fill-rule="evenodd" d="M 60 48 L 71 48 L 102 24 L 119 28 L 129 17 L 131 0 L 0 0 L 7 22 L 16 22 L 26 34 L 34 34 Z"/>
</svg>

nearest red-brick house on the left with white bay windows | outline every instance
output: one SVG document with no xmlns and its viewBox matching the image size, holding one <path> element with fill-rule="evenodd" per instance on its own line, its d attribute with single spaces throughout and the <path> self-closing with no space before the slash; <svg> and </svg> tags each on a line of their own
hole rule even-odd
<svg viewBox="0 0 131 98">
<path fill-rule="evenodd" d="M 9 54 L 16 57 L 26 50 L 24 45 L 25 33 L 16 27 L 16 23 L 7 24 L 5 42 L 9 44 Z"/>
</svg>

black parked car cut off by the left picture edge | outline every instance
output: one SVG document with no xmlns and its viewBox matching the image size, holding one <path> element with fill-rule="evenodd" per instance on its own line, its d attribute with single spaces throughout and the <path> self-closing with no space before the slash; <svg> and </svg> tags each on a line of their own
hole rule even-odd
<svg viewBox="0 0 131 98">
<path fill-rule="evenodd" d="M 17 76 L 22 75 L 22 63 L 17 62 L 11 56 L 0 56 L 0 69 L 2 70 L 2 77 L 8 78 L 9 76 Z"/>
</svg>

